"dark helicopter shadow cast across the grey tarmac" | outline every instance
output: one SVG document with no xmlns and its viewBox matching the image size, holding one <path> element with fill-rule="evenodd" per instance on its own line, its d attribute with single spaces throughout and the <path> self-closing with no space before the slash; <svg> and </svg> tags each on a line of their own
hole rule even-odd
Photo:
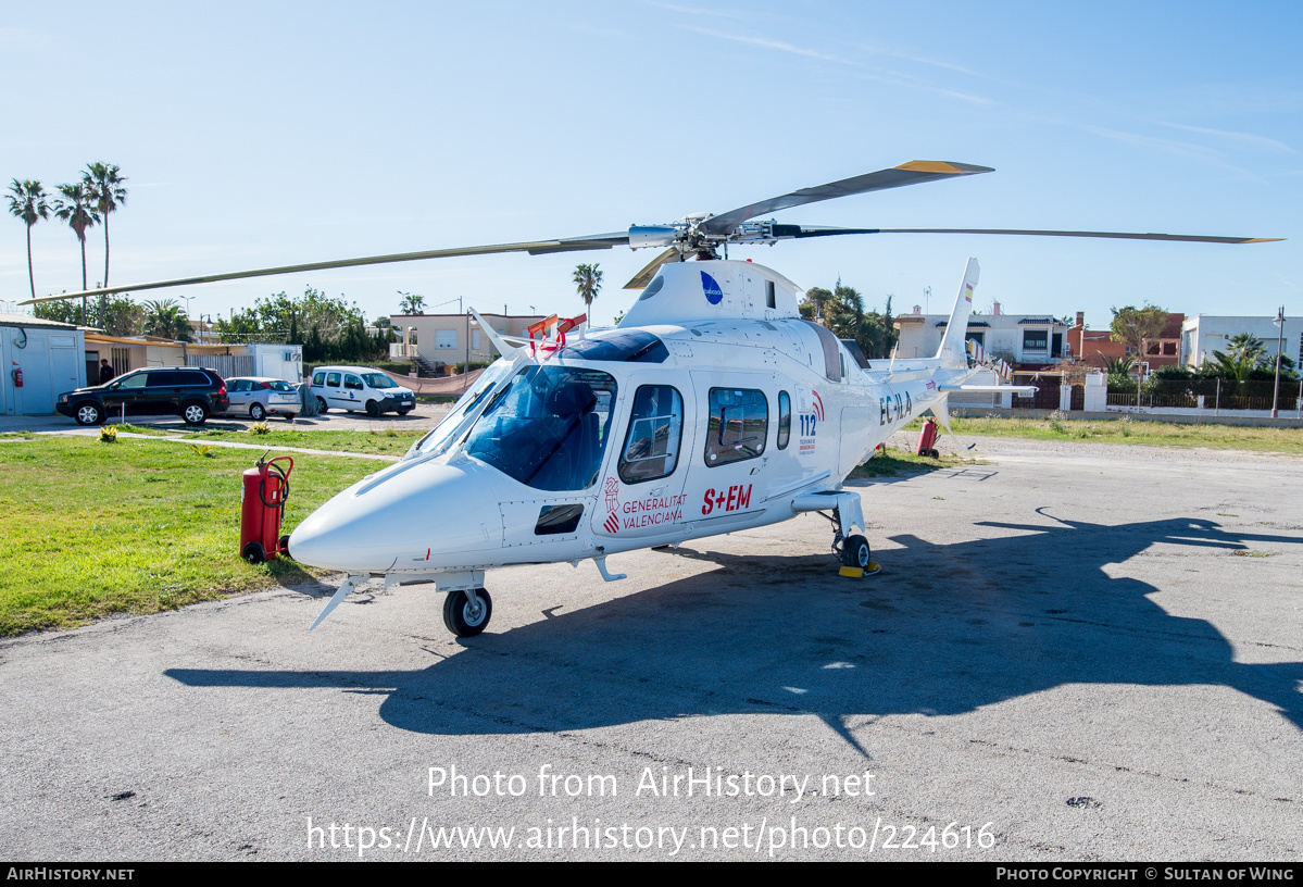
<svg viewBox="0 0 1303 887">
<path fill-rule="evenodd" d="M 680 556 L 715 569 L 572 612 L 560 602 L 418 671 L 167 673 L 190 686 L 378 693 L 386 722 L 439 735 L 787 712 L 816 714 L 860 748 L 847 724 L 864 716 L 967 712 L 1065 684 L 1225 685 L 1303 729 L 1303 663 L 1237 663 L 1212 624 L 1171 616 L 1147 597 L 1157 589 L 1104 570 L 1156 543 L 1218 556 L 1303 539 L 1188 518 L 986 526 L 1019 533 L 895 537 L 904 548 L 890 572 L 857 582 L 831 573 L 827 555 L 666 552 L 667 573 Z"/>
</svg>

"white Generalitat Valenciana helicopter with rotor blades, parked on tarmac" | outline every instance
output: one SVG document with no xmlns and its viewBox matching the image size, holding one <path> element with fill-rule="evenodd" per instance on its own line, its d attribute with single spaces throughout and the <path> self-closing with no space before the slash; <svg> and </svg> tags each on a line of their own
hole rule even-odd
<svg viewBox="0 0 1303 887">
<path fill-rule="evenodd" d="M 433 582 L 447 593 L 448 630 L 469 637 L 493 615 L 489 569 L 590 559 L 606 581 L 615 581 L 624 576 L 607 569 L 610 555 L 678 546 L 804 512 L 830 518 L 843 572 L 863 576 L 873 564 L 860 495 L 843 488 L 851 470 L 913 415 L 930 412 L 949 430 L 950 392 L 1032 391 L 967 384 L 979 369 L 964 341 L 976 259 L 964 270 L 934 357 L 868 361 L 801 318 L 801 289 L 791 280 L 749 260 L 721 259 L 728 244 L 870 233 L 1260 240 L 753 221 L 804 203 L 985 172 L 992 169 L 916 160 L 723 215 L 611 234 L 263 268 L 31 301 L 455 255 L 665 247 L 629 281 L 642 293 L 615 328 L 586 331 L 584 318 L 554 317 L 532 330 L 530 339 L 517 339 L 499 335 L 472 309 L 500 359 L 400 462 L 344 490 L 291 534 L 296 560 L 348 574 L 311 628 L 379 576 L 386 587 Z M 450 517 L 435 520 L 435 511 Z"/>
</svg>

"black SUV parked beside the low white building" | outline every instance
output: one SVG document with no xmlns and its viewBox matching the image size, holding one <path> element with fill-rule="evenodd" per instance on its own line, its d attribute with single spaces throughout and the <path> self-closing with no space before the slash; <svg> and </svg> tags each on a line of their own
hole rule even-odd
<svg viewBox="0 0 1303 887">
<path fill-rule="evenodd" d="M 55 409 L 78 425 L 99 425 L 124 408 L 137 414 L 177 413 L 190 425 L 203 425 L 208 413 L 224 412 L 228 402 L 227 383 L 214 370 L 167 366 L 59 395 Z"/>
</svg>

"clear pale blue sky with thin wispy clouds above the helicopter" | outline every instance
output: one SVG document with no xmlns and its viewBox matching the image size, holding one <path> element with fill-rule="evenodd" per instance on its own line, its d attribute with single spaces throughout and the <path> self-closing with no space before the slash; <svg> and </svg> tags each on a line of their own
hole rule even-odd
<svg viewBox="0 0 1303 887">
<path fill-rule="evenodd" d="M 1293 3 L 12 4 L 0 180 L 116 163 L 111 283 L 620 231 L 906 160 L 997 172 L 788 210 L 848 227 L 1287 237 L 1214 246 L 971 236 L 734 250 L 869 306 L 1303 314 L 1303 5 Z M 0 224 L 0 300 L 27 294 Z M 38 293 L 81 288 L 76 237 L 33 232 Z M 90 280 L 103 234 L 89 236 Z M 498 255 L 171 290 L 222 314 L 308 285 L 369 318 L 427 305 L 597 322 L 652 251 Z M 165 290 L 143 293 L 162 297 Z M 186 302 L 186 298 L 189 301 Z M 456 302 L 438 310 L 457 309 Z"/>
</svg>

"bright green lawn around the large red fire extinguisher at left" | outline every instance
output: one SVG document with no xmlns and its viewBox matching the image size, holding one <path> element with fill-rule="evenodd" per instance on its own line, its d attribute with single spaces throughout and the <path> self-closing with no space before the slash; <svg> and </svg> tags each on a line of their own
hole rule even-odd
<svg viewBox="0 0 1303 887">
<path fill-rule="evenodd" d="M 265 438 L 263 438 L 265 439 Z M 249 451 L 42 436 L 0 447 L 0 636 L 70 628 L 293 584 L 292 561 L 240 559 Z M 296 456 L 285 528 L 377 462 Z"/>
</svg>

